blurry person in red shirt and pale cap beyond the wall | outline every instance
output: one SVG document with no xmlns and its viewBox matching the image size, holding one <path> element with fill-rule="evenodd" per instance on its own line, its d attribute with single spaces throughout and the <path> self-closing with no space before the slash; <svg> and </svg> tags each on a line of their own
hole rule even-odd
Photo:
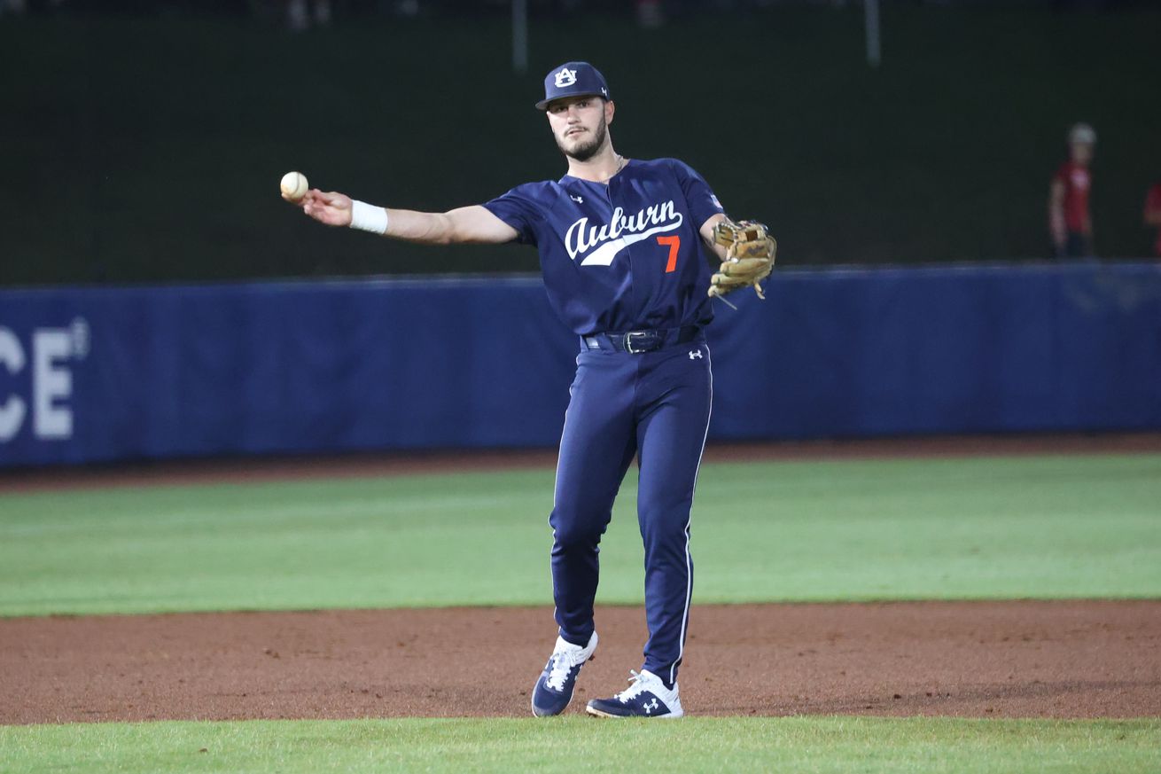
<svg viewBox="0 0 1161 774">
<path fill-rule="evenodd" d="M 1093 216 L 1089 191 L 1093 174 L 1093 146 L 1096 131 L 1077 123 L 1068 131 L 1068 160 L 1052 177 L 1048 187 L 1048 234 L 1057 258 L 1086 258 L 1093 255 Z"/>
</svg>

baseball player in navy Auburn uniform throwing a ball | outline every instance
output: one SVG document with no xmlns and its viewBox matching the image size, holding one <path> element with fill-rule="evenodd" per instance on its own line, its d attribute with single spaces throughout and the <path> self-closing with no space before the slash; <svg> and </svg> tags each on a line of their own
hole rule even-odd
<svg viewBox="0 0 1161 774">
<path fill-rule="evenodd" d="M 682 162 L 618 153 L 608 132 L 615 107 L 592 65 L 553 70 L 536 108 L 568 160 L 560 180 L 447 213 L 384 209 L 318 189 L 300 203 L 329 225 L 398 239 L 538 248 L 548 298 L 578 335 L 580 352 L 549 516 L 558 637 L 532 711 L 562 712 L 597 647 L 598 544 L 637 457 L 649 642 L 630 686 L 589 702 L 587 711 L 676 718 L 693 588 L 690 510 L 713 389 L 702 329 L 713 317 L 712 296 L 747 286 L 760 295 L 774 243 L 760 224 L 729 221 L 706 181 Z M 702 248 L 722 259 L 716 273 Z"/>
</svg>

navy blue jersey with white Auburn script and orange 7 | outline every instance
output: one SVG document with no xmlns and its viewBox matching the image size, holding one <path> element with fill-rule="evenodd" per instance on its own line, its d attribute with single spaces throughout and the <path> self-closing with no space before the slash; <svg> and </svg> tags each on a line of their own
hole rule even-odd
<svg viewBox="0 0 1161 774">
<path fill-rule="evenodd" d="M 722 207 L 683 162 L 630 160 L 607 185 L 528 182 L 484 207 L 540 250 L 549 301 L 582 336 L 713 318 L 699 230 Z"/>
</svg>

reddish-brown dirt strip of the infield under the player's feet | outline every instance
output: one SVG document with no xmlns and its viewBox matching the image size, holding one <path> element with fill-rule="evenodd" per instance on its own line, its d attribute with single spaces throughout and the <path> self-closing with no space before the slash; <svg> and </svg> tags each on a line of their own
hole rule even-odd
<svg viewBox="0 0 1161 774">
<path fill-rule="evenodd" d="M 600 608 L 569 712 L 626 687 Z M 0 619 L 0 723 L 527 716 L 543 608 Z M 701 605 L 691 715 L 1161 716 L 1161 601 Z"/>
</svg>

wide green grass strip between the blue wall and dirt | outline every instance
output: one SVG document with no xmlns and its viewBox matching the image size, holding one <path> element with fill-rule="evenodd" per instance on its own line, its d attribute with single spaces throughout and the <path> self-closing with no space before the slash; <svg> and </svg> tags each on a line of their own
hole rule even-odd
<svg viewBox="0 0 1161 774">
<path fill-rule="evenodd" d="M 635 475 L 598 602 L 642 600 Z M 0 495 L 0 615 L 547 604 L 553 472 Z M 706 465 L 694 601 L 1161 596 L 1161 456 Z"/>
</svg>

